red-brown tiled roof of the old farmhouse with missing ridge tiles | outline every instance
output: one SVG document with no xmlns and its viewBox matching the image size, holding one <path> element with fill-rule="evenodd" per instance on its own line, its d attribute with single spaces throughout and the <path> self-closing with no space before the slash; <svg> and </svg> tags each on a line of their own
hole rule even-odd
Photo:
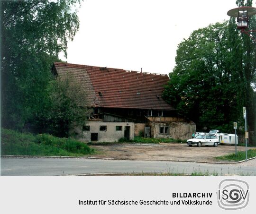
<svg viewBox="0 0 256 214">
<path fill-rule="evenodd" d="M 61 62 L 53 72 L 74 77 L 87 90 L 91 107 L 174 110 L 162 98 L 167 75 Z"/>
</svg>

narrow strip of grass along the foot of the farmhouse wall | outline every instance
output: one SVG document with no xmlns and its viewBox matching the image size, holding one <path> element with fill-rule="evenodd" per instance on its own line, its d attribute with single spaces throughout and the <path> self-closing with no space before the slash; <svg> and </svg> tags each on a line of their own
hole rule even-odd
<svg viewBox="0 0 256 214">
<path fill-rule="evenodd" d="M 173 139 L 173 138 L 146 138 L 146 137 L 134 137 L 134 140 L 128 140 L 126 138 L 120 138 L 118 142 L 89 142 L 87 145 L 113 145 L 122 143 L 143 143 L 143 144 L 159 144 L 159 143 L 186 143 L 186 140 Z"/>
</svg>

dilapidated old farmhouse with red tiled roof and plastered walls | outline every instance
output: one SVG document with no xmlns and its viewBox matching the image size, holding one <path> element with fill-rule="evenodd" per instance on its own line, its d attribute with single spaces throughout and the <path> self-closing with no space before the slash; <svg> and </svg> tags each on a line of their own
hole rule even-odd
<svg viewBox="0 0 256 214">
<path fill-rule="evenodd" d="M 142 134 L 188 139 L 195 131 L 192 121 L 178 117 L 163 100 L 167 75 L 60 62 L 54 63 L 53 73 L 72 76 L 87 91 L 92 113 L 75 130 L 80 140 L 110 142 Z"/>
</svg>

